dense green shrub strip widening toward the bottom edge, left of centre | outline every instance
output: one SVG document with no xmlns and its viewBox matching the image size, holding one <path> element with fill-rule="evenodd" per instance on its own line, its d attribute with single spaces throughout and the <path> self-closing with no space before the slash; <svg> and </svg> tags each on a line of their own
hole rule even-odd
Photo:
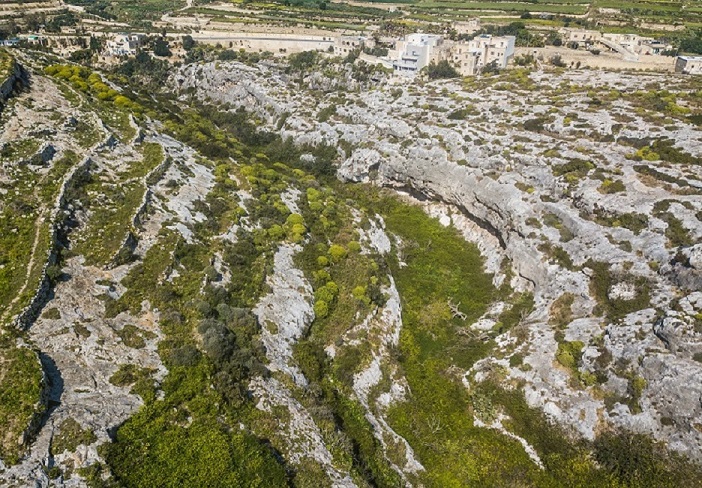
<svg viewBox="0 0 702 488">
<path fill-rule="evenodd" d="M 244 236 L 241 242 L 239 248 L 252 244 Z M 166 334 L 159 349 L 169 367 L 160 385 L 164 398 L 140 393 L 146 406 L 118 430 L 115 443 L 105 450 L 116 478 L 127 486 L 286 483 L 285 471 L 270 450 L 251 433 L 227 427 L 237 425 L 241 408 L 246 408 L 241 381 L 256 367 L 251 359 L 260 354 L 249 352 L 257 324 L 246 322 L 246 312 L 233 308 L 246 295 L 237 289 L 238 283 L 228 291 L 198 291 L 208 255 L 204 247 L 164 234 L 125 278 L 127 294 L 111 305 L 140 309 L 141 300 L 148 298 L 159 306 Z M 244 259 L 246 269 L 255 256 Z M 178 268 L 181 276 L 162 281 L 170 267 Z M 242 330 L 245 323 L 249 325 Z M 200 335 L 205 354 L 197 347 Z M 113 381 L 137 384 L 140 375 L 124 370 Z"/>
</svg>

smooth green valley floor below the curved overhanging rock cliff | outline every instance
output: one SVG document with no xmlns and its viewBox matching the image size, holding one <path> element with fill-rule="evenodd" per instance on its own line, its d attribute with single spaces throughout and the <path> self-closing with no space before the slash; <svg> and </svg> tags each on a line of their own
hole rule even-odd
<svg viewBox="0 0 702 488">
<path fill-rule="evenodd" d="M 528 479 L 538 469 L 514 441 L 473 426 L 471 395 L 450 374 L 493 347 L 461 333 L 496 296 L 478 251 L 418 208 L 383 204 L 388 229 L 416 243 L 404 253 L 406 267 L 391 265 L 403 298 L 399 359 L 412 392 L 390 410 L 391 425 L 416 450 L 431 486 L 510 484 L 517 471 Z M 466 321 L 452 317 L 448 300 L 461 302 Z"/>
</svg>

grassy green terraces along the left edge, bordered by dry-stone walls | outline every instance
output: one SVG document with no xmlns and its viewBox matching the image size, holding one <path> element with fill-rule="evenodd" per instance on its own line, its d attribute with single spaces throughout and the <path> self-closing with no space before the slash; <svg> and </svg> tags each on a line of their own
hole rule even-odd
<svg viewBox="0 0 702 488">
<path fill-rule="evenodd" d="M 2 115 L 9 116 L 7 112 Z M 54 245 L 50 209 L 78 156 L 65 151 L 46 171 L 37 171 L 44 161 L 39 141 L 30 137 L 6 144 L 0 159 L 9 178 L 2 183 L 6 196 L 0 205 L 0 456 L 14 464 L 45 408 L 40 402 L 45 385 L 37 353 L 18 342 L 21 339 L 11 328 L 11 319 L 29 305 L 44 279 L 46 259 Z M 15 191 L 8 192 L 9 188 Z M 46 274 L 55 279 L 59 271 L 52 266 Z"/>
</svg>

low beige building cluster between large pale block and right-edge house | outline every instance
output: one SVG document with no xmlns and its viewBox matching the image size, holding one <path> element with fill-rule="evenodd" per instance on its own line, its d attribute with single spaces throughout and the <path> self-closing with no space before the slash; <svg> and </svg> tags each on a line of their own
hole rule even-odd
<svg viewBox="0 0 702 488">
<path fill-rule="evenodd" d="M 652 37 L 642 37 L 638 34 L 613 34 L 586 29 L 563 28 L 559 31 L 566 43 L 577 42 L 586 47 L 601 45 L 619 52 L 625 57 L 636 58 L 641 55 L 659 55 L 663 51 L 672 49 Z"/>
</svg>

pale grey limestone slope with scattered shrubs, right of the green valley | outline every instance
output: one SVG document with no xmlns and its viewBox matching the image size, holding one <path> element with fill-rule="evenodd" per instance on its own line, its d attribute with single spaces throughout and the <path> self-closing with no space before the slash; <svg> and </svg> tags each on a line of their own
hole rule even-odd
<svg viewBox="0 0 702 488">
<path fill-rule="evenodd" d="M 515 72 L 322 93 L 270 66 L 193 69 L 177 84 L 338 147 L 340 179 L 444 202 L 496 239 L 534 293 L 528 367 L 509 373 L 530 404 L 586 438 L 625 427 L 699 457 L 702 132 L 686 80 Z"/>
</svg>

